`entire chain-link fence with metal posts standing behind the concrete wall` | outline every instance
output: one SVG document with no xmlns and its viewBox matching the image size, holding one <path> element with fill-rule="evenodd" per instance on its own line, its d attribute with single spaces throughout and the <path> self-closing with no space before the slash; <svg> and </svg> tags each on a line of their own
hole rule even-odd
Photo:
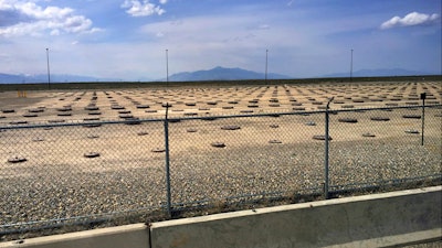
<svg viewBox="0 0 442 248">
<path fill-rule="evenodd" d="M 441 180 L 441 105 L 329 107 L 3 125 L 0 231 Z"/>
</svg>

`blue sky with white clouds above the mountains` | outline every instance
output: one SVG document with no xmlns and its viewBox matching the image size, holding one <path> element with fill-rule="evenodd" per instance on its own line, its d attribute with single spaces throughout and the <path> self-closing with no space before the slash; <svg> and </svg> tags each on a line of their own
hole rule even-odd
<svg viewBox="0 0 442 248">
<path fill-rule="evenodd" d="M 0 0 L 0 73 L 441 73 L 440 0 Z"/>
</svg>

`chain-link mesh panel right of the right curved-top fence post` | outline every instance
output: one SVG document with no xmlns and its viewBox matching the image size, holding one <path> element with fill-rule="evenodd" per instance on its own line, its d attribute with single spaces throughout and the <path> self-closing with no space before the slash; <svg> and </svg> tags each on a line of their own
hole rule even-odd
<svg viewBox="0 0 442 248">
<path fill-rule="evenodd" d="M 330 116 L 330 184 L 375 186 L 441 172 L 441 110 L 422 108 L 336 111 Z M 338 186 L 340 185 L 340 186 Z"/>
</svg>

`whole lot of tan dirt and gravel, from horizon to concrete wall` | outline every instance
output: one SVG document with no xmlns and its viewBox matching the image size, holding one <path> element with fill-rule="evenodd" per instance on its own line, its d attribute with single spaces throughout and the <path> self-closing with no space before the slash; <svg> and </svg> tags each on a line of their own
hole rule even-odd
<svg viewBox="0 0 442 248">
<path fill-rule="evenodd" d="M 2 108 L 0 226 L 164 209 L 166 164 L 175 209 L 323 194 L 327 112 L 330 192 L 440 180 L 440 95 L 431 83 L 51 93 Z"/>
</svg>

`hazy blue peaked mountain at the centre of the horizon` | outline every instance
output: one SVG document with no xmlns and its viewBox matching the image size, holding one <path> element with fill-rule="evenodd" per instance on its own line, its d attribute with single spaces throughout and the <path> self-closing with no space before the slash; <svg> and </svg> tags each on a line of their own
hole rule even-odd
<svg viewBox="0 0 442 248">
<path fill-rule="evenodd" d="M 265 73 L 256 73 L 242 68 L 225 68 L 217 66 L 212 69 L 203 69 L 196 72 L 177 73 L 169 76 L 172 82 L 189 82 L 189 80 L 242 80 L 242 79 L 264 79 Z M 288 79 L 290 76 L 269 73 L 269 79 Z"/>
</svg>

